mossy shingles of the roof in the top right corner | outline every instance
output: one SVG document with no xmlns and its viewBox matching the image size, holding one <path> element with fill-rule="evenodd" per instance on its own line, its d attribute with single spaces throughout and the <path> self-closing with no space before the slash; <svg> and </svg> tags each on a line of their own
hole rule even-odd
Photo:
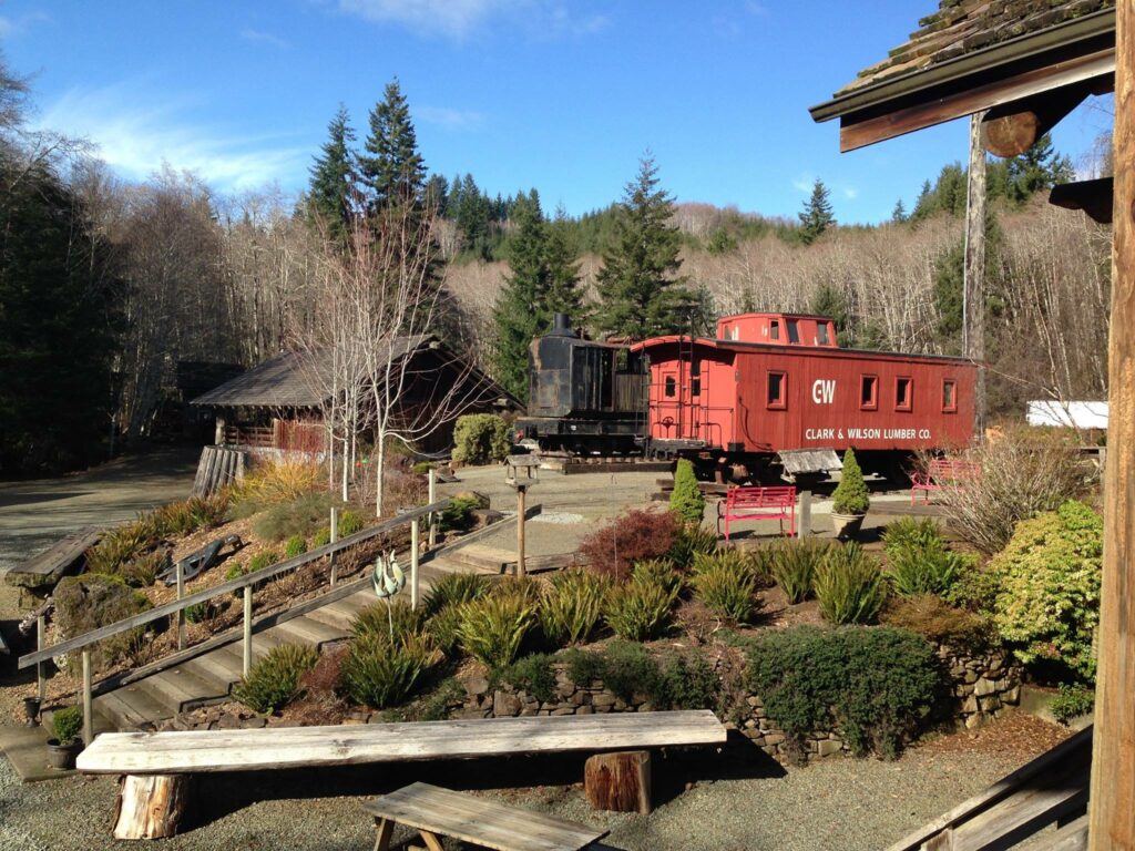
<svg viewBox="0 0 1135 851">
<path fill-rule="evenodd" d="M 859 71 L 836 96 L 1115 6 L 1116 0 L 940 0 L 909 41 Z"/>
</svg>

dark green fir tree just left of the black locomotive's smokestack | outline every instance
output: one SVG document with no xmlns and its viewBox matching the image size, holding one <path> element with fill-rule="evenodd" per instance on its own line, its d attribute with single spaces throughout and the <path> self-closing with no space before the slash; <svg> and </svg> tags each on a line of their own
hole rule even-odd
<svg viewBox="0 0 1135 851">
<path fill-rule="evenodd" d="M 513 222 L 516 234 L 508 252 L 512 273 L 505 278 L 493 310 L 493 361 L 496 379 L 516 398 L 527 401 L 528 349 L 532 338 L 548 325 L 548 226 L 536 189 L 516 200 Z"/>
</svg>

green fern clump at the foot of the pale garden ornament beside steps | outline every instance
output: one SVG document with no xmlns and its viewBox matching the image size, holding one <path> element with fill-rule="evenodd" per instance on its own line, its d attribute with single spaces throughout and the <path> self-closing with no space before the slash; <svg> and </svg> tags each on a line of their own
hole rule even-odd
<svg viewBox="0 0 1135 851">
<path fill-rule="evenodd" d="M 355 703 L 396 706 L 437 662 L 436 648 L 419 633 L 392 643 L 385 632 L 367 632 L 351 642 L 343 660 L 343 690 Z"/>
</svg>

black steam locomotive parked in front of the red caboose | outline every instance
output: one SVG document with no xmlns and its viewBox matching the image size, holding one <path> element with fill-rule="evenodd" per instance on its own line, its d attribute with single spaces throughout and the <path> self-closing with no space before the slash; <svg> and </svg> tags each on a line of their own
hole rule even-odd
<svg viewBox="0 0 1135 851">
<path fill-rule="evenodd" d="M 528 416 L 516 421 L 518 444 L 577 455 L 642 452 L 649 373 L 640 354 L 582 339 L 557 313 L 528 359 Z"/>
</svg>

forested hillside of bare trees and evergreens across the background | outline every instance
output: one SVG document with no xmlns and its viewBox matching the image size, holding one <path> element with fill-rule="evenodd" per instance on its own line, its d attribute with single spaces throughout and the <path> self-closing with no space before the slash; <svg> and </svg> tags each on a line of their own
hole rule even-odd
<svg viewBox="0 0 1135 851">
<path fill-rule="evenodd" d="M 360 252 L 393 238 L 379 218 L 392 207 L 412 212 L 398 236 L 422 235 L 413 268 L 435 293 L 415 327 L 521 396 L 527 343 L 556 311 L 592 335 L 637 337 L 810 310 L 834 315 L 846 345 L 960 347 L 956 165 L 909 214 L 898 204 L 866 227 L 836 221 L 819 182 L 792 221 L 675 201 L 647 154 L 609 207 L 571 218 L 538 187 L 501 194 L 430 174 L 395 82 L 364 130 L 345 109 L 331 118 L 300 197 L 225 196 L 170 169 L 124 180 L 81 142 L 32 132 L 25 96 L 0 65 L 0 474 L 79 466 L 146 437 L 180 362 L 252 365 L 326 344 L 348 267 L 387 286 L 390 270 L 368 271 Z M 1107 389 L 1109 234 L 1045 203 L 1070 172 L 1046 140 L 990 166 L 994 414 Z"/>
</svg>

